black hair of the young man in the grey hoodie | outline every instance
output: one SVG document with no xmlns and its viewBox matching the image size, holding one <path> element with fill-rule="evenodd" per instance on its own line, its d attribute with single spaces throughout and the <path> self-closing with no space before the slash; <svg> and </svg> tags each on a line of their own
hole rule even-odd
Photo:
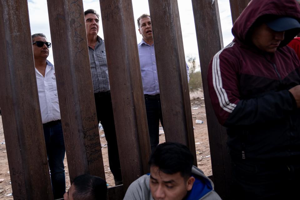
<svg viewBox="0 0 300 200">
<path fill-rule="evenodd" d="M 194 157 L 187 146 L 180 143 L 162 143 L 157 146 L 149 159 L 149 166 L 156 166 L 166 174 L 180 172 L 183 178 L 192 173 Z"/>
</svg>

